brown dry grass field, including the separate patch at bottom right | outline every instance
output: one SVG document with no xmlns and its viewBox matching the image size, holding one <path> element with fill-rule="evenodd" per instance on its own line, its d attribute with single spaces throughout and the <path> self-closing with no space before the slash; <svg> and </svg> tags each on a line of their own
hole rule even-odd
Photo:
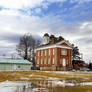
<svg viewBox="0 0 92 92">
<path fill-rule="evenodd" d="M 35 81 L 45 79 L 76 80 L 77 83 L 92 82 L 92 72 L 61 72 L 61 71 L 0 71 L 0 82 L 3 81 Z M 92 85 L 56 87 L 53 92 L 92 92 Z"/>
</svg>

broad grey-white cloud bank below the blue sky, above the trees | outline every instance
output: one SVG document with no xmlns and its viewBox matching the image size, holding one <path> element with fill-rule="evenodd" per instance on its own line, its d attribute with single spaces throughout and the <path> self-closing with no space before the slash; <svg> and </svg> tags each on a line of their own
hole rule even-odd
<svg viewBox="0 0 92 92">
<path fill-rule="evenodd" d="M 48 32 L 50 34 L 56 34 L 56 36 L 62 35 L 66 40 L 78 45 L 80 51 L 84 53 L 84 59 L 91 59 L 91 21 L 79 21 L 67 24 L 60 19 L 60 16 L 48 15 L 38 17 L 22 15 L 20 12 L 16 12 L 14 15 L 12 14 L 13 12 L 7 14 L 7 12 L 0 11 L 1 52 L 4 53 L 7 50 L 7 54 L 14 53 L 19 38 L 25 33 L 30 32 L 32 35 L 42 37 L 44 33 Z"/>
</svg>

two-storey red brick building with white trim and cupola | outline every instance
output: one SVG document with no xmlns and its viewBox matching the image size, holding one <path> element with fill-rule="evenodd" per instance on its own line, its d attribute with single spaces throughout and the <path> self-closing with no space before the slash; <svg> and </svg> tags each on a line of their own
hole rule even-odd
<svg viewBox="0 0 92 92">
<path fill-rule="evenodd" d="M 40 70 L 70 70 L 72 68 L 71 44 L 63 37 L 43 36 L 43 44 L 36 49 L 36 66 Z"/>
</svg>

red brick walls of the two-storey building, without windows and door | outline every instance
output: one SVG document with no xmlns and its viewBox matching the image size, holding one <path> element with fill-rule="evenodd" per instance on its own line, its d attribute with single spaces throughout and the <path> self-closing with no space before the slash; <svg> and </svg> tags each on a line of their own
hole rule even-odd
<svg viewBox="0 0 92 92">
<path fill-rule="evenodd" d="M 45 56 L 45 50 L 39 50 L 36 52 L 36 64 L 38 62 L 38 60 L 41 63 L 41 59 L 43 61 L 43 64 L 37 64 L 38 66 L 62 66 L 62 64 L 60 64 L 60 60 L 65 58 L 67 60 L 67 66 L 71 66 L 72 65 L 72 60 L 71 60 L 71 50 L 66 49 L 67 50 L 67 55 L 66 56 L 62 56 L 61 55 L 61 50 L 63 50 L 62 48 L 54 48 L 54 55 L 53 55 L 53 48 L 50 48 L 50 55 L 49 55 L 49 49 L 47 49 L 47 55 Z M 41 51 L 43 51 L 43 56 L 41 56 Z M 40 52 L 40 55 L 38 56 L 38 52 Z M 44 64 L 44 58 L 46 59 L 46 64 Z M 52 64 L 54 58 L 54 64 Z M 50 64 L 48 64 L 48 59 L 50 59 Z"/>
</svg>

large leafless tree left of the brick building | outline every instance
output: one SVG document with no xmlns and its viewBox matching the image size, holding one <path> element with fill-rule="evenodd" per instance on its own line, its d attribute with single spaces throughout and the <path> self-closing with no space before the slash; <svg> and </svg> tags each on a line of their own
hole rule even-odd
<svg viewBox="0 0 92 92">
<path fill-rule="evenodd" d="M 30 33 L 23 35 L 17 45 L 17 52 L 23 58 L 33 61 L 35 64 L 35 48 L 40 44 L 39 40 L 33 38 Z"/>
</svg>

